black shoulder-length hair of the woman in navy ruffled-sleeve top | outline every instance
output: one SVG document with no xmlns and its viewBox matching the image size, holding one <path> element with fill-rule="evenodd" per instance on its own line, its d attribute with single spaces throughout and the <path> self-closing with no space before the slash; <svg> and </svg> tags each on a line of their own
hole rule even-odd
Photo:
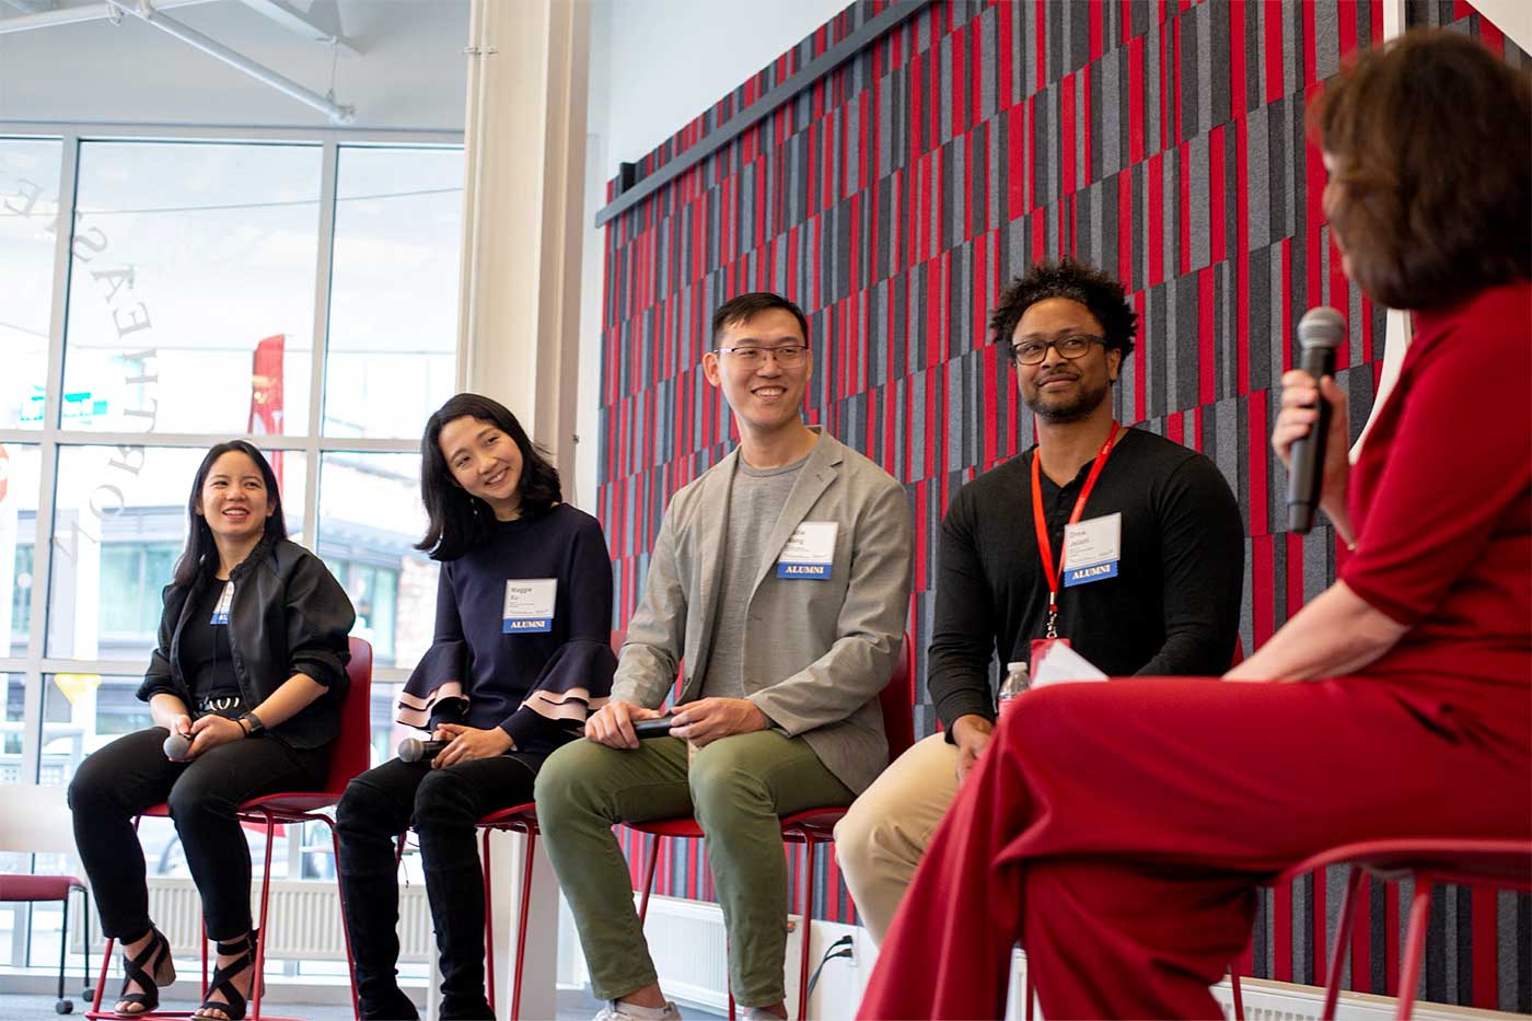
<svg viewBox="0 0 1532 1021">
<path fill-rule="evenodd" d="M 458 394 L 426 419 L 426 434 L 420 437 L 420 498 L 426 504 L 430 524 L 426 537 L 415 549 L 430 553 L 432 560 L 457 560 L 473 546 L 489 540 L 495 512 L 478 497 L 469 495 L 447 468 L 441 454 L 441 428 L 461 417 L 489 422 L 509 435 L 521 451 L 522 517 L 542 514 L 564 500 L 559 489 L 559 471 L 538 449 L 527 431 L 516 422 L 506 405 L 481 394 Z"/>
</svg>

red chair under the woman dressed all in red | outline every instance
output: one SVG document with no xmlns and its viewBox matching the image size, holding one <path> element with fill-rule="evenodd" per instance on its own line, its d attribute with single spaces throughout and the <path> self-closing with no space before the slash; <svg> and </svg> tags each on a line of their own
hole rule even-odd
<svg viewBox="0 0 1532 1021">
<path fill-rule="evenodd" d="M 1420 837 L 1402 840 L 1363 840 L 1322 851 L 1299 862 L 1273 880 L 1273 885 L 1290 883 L 1308 872 L 1319 872 L 1331 865 L 1347 865 L 1345 897 L 1340 900 L 1340 920 L 1336 926 L 1334 944 L 1330 947 L 1330 972 L 1325 977 L 1325 1006 L 1321 1013 L 1325 1021 L 1336 1016 L 1336 1001 L 1340 996 L 1340 970 L 1351 950 L 1351 923 L 1356 918 L 1356 888 L 1362 874 L 1371 872 L 1386 883 L 1414 880 L 1416 897 L 1409 909 L 1409 932 L 1405 937 L 1405 955 L 1399 967 L 1397 1018 L 1408 1018 L 1416 1003 L 1416 986 L 1420 977 L 1420 958 L 1426 949 L 1426 924 L 1431 918 L 1431 892 L 1435 883 L 1458 883 L 1466 886 L 1498 886 L 1523 894 L 1532 894 L 1532 840 L 1449 840 Z M 1239 973 L 1230 967 L 1235 1016 L 1244 1018 L 1244 998 L 1239 992 Z"/>
</svg>

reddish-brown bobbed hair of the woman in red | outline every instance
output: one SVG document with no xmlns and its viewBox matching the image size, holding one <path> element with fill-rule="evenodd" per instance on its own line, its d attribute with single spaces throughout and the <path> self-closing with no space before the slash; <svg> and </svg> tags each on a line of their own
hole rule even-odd
<svg viewBox="0 0 1532 1021">
<path fill-rule="evenodd" d="M 1529 77 L 1457 32 L 1405 32 L 1325 87 L 1308 135 L 1370 297 L 1432 308 L 1532 276 L 1529 121 Z"/>
</svg>

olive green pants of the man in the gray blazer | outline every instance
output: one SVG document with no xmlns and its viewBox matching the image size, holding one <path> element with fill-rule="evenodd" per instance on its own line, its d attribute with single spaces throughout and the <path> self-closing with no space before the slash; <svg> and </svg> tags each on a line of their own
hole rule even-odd
<svg viewBox="0 0 1532 1021">
<path fill-rule="evenodd" d="M 787 862 L 778 816 L 853 797 L 803 737 L 777 730 L 722 737 L 689 763 L 679 737 L 654 737 L 633 751 L 576 740 L 548 756 L 536 794 L 542 840 L 597 1000 L 656 981 L 611 826 L 679 816 L 696 816 L 706 834 L 734 998 L 743 1007 L 783 1000 Z"/>
</svg>

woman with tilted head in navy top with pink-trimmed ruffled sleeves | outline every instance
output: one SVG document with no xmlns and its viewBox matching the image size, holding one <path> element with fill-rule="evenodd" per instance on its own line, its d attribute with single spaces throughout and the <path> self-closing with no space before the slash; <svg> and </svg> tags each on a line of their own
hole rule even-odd
<svg viewBox="0 0 1532 1021">
<path fill-rule="evenodd" d="M 475 822 L 532 800 L 542 760 L 611 690 L 611 560 L 601 524 L 561 503 L 516 417 L 458 394 L 426 423 L 420 549 L 441 561 L 430 650 L 398 719 L 444 747 L 363 773 L 337 809 L 340 885 L 363 1018 L 414 1018 L 400 990 L 394 846 L 414 826 L 441 954 L 441 1016 L 493 1018 Z"/>
</svg>

